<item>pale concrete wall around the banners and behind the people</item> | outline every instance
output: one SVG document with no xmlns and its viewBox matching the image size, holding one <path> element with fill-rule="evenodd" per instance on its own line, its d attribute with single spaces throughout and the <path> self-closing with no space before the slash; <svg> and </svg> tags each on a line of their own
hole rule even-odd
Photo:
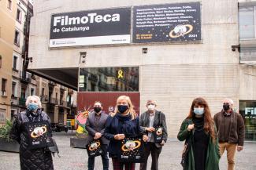
<svg viewBox="0 0 256 170">
<path fill-rule="evenodd" d="M 238 5 L 236 0 L 202 2 L 202 43 L 90 46 L 84 49 L 49 49 L 50 15 L 88 9 L 106 9 L 131 5 L 176 2 L 161 1 L 43 1 L 35 2 L 30 37 L 30 69 L 61 67 L 139 66 L 141 111 L 147 99 L 156 99 L 158 109 L 166 114 L 169 136 L 176 137 L 192 99 L 203 96 L 212 113 L 221 110 L 221 100 L 230 97 L 238 107 L 239 52 L 231 45 L 239 44 Z M 142 48 L 147 47 L 147 54 Z M 80 64 L 80 52 L 87 52 Z M 247 87 L 247 84 L 243 86 Z M 252 90 L 255 89 L 250 87 Z M 256 98 L 252 96 L 252 98 Z"/>
</svg>

